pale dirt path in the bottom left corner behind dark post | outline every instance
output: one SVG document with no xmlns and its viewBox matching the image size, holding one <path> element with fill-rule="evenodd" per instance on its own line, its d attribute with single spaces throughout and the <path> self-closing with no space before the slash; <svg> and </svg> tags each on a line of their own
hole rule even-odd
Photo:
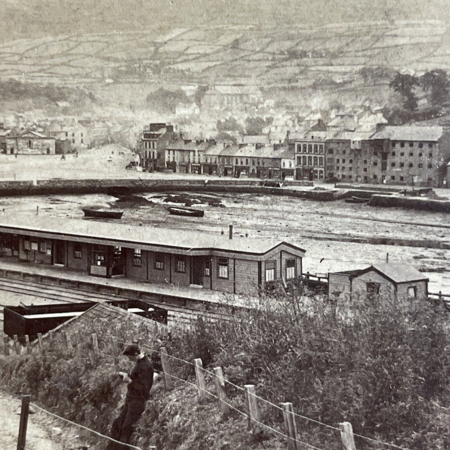
<svg viewBox="0 0 450 450">
<path fill-rule="evenodd" d="M 8 397 L 1 394 L 1 397 Z M 0 397 L 0 450 L 17 449 L 19 432 L 20 403 L 13 399 L 4 400 Z M 30 414 L 27 427 L 27 450 L 62 450 L 63 446 L 51 439 L 46 427 L 39 425 L 40 414 Z"/>
</svg>

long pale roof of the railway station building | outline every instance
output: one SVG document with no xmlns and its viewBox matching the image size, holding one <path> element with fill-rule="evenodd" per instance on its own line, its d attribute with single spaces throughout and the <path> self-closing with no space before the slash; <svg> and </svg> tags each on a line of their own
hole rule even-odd
<svg viewBox="0 0 450 450">
<path fill-rule="evenodd" d="M 228 252 L 239 254 L 243 259 L 259 259 L 281 244 L 292 248 L 293 252 L 305 252 L 297 245 L 266 238 L 229 239 L 226 235 L 212 233 L 35 215 L 2 216 L 0 232 L 191 256 L 220 256 Z"/>
</svg>

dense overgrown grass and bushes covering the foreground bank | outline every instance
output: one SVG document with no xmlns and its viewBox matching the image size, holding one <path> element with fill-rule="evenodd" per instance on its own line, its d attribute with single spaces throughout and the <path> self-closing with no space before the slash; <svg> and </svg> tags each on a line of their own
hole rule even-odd
<svg viewBox="0 0 450 450">
<path fill-rule="evenodd" d="M 368 303 L 342 311 L 337 305 L 307 299 L 215 324 L 199 320 L 192 330 L 173 329 L 159 336 L 169 354 L 183 360 L 202 358 L 209 370 L 221 366 L 225 378 L 278 405 L 292 401 L 294 411 L 337 426 L 349 421 L 354 432 L 410 449 L 450 445 L 450 392 L 447 313 L 441 305 L 418 302 L 403 311 L 397 305 Z M 160 342 L 131 323 L 102 322 L 78 330 L 96 331 L 102 355 L 85 342 L 70 351 L 61 347 L 44 356 L 0 360 L 1 384 L 10 393 L 30 392 L 33 401 L 68 419 L 107 432 L 121 399 L 114 377 L 110 338 L 148 344 L 156 369 Z M 75 339 L 75 334 L 72 334 Z M 193 366 L 171 361 L 177 377 L 194 383 Z M 123 368 L 125 363 L 121 362 Z M 211 392 L 213 382 L 207 376 Z M 221 422 L 216 400 L 198 405 L 196 389 L 181 382 L 173 392 L 153 388 L 135 444 L 159 449 L 283 448 L 279 437 L 252 437 L 237 412 Z M 231 404 L 245 411 L 243 392 L 227 384 Z M 260 402 L 263 422 L 284 432 L 282 415 Z M 340 449 L 339 433 L 297 418 L 300 439 Z M 269 441 L 268 441 L 269 440 Z M 371 448 L 356 437 L 357 448 Z M 383 446 L 376 446 L 382 448 Z M 99 448 L 99 447 L 95 447 Z"/>
</svg>

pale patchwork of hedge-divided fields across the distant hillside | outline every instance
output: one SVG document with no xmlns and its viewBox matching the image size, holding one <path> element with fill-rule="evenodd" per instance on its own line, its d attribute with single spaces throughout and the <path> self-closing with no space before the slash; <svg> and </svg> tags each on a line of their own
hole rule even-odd
<svg viewBox="0 0 450 450">
<path fill-rule="evenodd" d="M 0 45 L 0 76 L 70 84 L 145 81 L 185 84 L 287 84 L 293 77 L 314 80 L 323 68 L 361 79 L 362 65 L 450 69 L 445 54 L 449 40 L 443 23 L 343 24 L 305 29 L 289 27 L 175 28 L 155 37 L 154 31 L 46 36 Z M 266 60 L 261 67 L 255 61 Z M 156 63 L 155 63 L 156 61 Z M 247 70 L 247 66 L 254 67 Z M 273 71 L 289 62 L 293 70 Z M 157 68 L 157 70 L 155 70 Z M 220 69 L 220 72 L 217 70 Z M 159 75 L 159 73 L 162 75 Z"/>
</svg>

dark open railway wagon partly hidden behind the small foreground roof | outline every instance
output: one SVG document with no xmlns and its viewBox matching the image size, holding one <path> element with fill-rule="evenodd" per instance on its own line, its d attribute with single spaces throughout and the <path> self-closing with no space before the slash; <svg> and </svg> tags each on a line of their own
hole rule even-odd
<svg viewBox="0 0 450 450">
<path fill-rule="evenodd" d="M 167 310 L 143 300 L 116 300 L 105 302 L 118 306 L 133 314 L 167 324 Z M 4 308 L 4 333 L 9 337 L 17 334 L 21 343 L 27 334 L 30 341 L 37 333 L 47 333 L 65 321 L 72 319 L 95 306 L 97 302 L 62 303 L 54 305 L 8 306 Z"/>
</svg>

